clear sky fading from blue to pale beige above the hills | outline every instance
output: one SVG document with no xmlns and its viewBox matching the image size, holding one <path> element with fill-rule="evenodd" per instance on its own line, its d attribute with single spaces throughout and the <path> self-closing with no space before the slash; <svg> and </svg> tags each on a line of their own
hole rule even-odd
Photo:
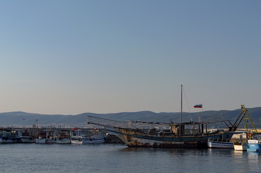
<svg viewBox="0 0 261 173">
<path fill-rule="evenodd" d="M 0 1 L 0 112 L 261 106 L 261 1 Z"/>
</svg>

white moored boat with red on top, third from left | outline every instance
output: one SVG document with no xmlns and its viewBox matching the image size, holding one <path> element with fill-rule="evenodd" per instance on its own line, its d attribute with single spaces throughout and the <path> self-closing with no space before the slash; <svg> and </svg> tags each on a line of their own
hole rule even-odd
<svg viewBox="0 0 261 173">
<path fill-rule="evenodd" d="M 40 133 L 37 133 L 35 137 L 35 143 L 41 143 L 41 144 L 56 143 L 55 131 L 52 129 L 46 129 Z"/>
</svg>

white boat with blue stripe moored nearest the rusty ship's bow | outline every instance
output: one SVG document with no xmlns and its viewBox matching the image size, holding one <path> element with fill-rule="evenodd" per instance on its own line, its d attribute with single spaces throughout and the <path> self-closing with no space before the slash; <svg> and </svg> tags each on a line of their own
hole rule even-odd
<svg viewBox="0 0 261 173">
<path fill-rule="evenodd" d="M 81 134 L 80 136 L 72 136 L 71 143 L 72 144 L 98 144 L 104 143 L 106 139 L 106 135 L 102 135 L 99 129 L 92 129 L 87 131 L 87 136 L 85 134 Z"/>
</svg>

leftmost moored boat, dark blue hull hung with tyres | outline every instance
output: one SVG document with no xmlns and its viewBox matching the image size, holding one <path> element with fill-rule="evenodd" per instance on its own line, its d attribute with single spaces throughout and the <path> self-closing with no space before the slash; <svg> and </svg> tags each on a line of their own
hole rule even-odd
<svg viewBox="0 0 261 173">
<path fill-rule="evenodd" d="M 9 129 L 0 129 L 0 142 L 1 143 L 19 143 L 20 137 L 24 130 L 9 130 Z"/>
</svg>

